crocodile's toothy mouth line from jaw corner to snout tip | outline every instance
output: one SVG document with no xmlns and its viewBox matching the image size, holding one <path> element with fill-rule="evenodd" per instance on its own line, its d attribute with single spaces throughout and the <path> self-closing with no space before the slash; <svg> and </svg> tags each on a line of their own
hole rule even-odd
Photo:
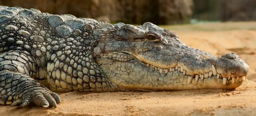
<svg viewBox="0 0 256 116">
<path fill-rule="evenodd" d="M 223 77 L 221 76 L 221 74 L 217 73 L 217 70 L 215 68 L 214 65 L 212 65 L 212 68 L 210 69 L 209 72 L 205 72 L 204 74 L 195 74 L 193 76 L 188 75 L 188 72 L 183 68 L 183 66 L 179 67 L 177 64 L 174 67 L 171 68 L 160 68 L 159 64 L 158 67 L 154 66 L 152 64 L 147 63 L 145 60 L 141 59 L 138 55 L 135 55 L 133 52 L 131 51 L 115 51 L 115 52 L 107 52 L 107 53 L 102 53 L 98 56 L 96 56 L 96 58 L 108 58 L 108 59 L 112 59 L 115 61 L 121 61 L 121 62 L 126 62 L 126 61 L 130 61 L 130 60 L 134 60 L 137 59 L 139 61 L 141 61 L 142 63 L 145 64 L 145 67 L 149 67 L 152 68 L 155 71 L 159 71 L 159 73 L 169 73 L 169 72 L 174 72 L 174 71 L 178 71 L 180 73 L 182 73 L 184 76 L 187 75 L 188 76 L 188 85 L 192 83 L 192 80 L 195 79 L 195 82 L 198 82 L 198 80 L 204 80 L 207 78 L 213 78 L 214 76 L 217 79 L 221 79 L 223 82 L 223 85 L 226 85 L 227 81 L 231 81 L 233 84 L 238 81 L 239 79 L 246 79 L 247 75 L 242 75 L 242 76 L 236 76 L 236 77 Z M 156 64 L 156 63 L 154 63 Z"/>
</svg>

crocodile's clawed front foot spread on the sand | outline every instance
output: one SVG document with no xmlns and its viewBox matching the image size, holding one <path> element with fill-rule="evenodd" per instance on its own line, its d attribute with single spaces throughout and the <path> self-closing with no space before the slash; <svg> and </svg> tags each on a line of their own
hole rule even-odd
<svg viewBox="0 0 256 116">
<path fill-rule="evenodd" d="M 30 104 L 36 104 L 43 107 L 57 107 L 57 103 L 61 102 L 61 98 L 57 93 L 47 88 L 34 88 L 30 92 L 26 92 L 21 98 L 14 101 L 11 106 L 25 107 Z"/>
</svg>

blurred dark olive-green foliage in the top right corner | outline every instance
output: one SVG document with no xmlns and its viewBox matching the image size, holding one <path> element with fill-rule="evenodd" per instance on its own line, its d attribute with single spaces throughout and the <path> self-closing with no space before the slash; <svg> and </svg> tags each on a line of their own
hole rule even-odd
<svg viewBox="0 0 256 116">
<path fill-rule="evenodd" d="M 255 21 L 256 0 L 193 0 L 192 19 L 206 21 Z"/>
</svg>

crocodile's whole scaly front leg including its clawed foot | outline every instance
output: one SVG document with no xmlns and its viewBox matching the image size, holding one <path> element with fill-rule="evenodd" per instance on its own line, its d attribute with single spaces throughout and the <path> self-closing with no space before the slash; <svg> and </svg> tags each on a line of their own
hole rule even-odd
<svg viewBox="0 0 256 116">
<path fill-rule="evenodd" d="M 0 55 L 0 104 L 24 107 L 36 104 L 56 107 L 60 102 L 58 94 L 31 78 L 29 60 L 21 59 L 19 51 L 9 51 Z M 26 56 L 27 57 L 27 56 Z"/>
</svg>

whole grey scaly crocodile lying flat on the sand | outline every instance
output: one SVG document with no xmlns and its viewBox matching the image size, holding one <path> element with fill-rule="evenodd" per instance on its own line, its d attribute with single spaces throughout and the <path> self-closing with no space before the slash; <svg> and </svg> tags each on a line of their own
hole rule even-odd
<svg viewBox="0 0 256 116">
<path fill-rule="evenodd" d="M 0 6 L 0 104 L 57 107 L 55 92 L 233 89 L 249 66 L 152 23 L 109 24 Z"/>
</svg>

